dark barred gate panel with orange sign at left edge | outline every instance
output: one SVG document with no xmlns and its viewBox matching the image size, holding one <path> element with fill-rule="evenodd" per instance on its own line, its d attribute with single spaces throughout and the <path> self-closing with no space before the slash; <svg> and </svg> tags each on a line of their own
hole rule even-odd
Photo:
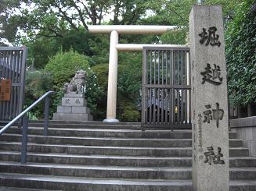
<svg viewBox="0 0 256 191">
<path fill-rule="evenodd" d="M 0 98 L 0 121 L 10 121 L 23 109 L 27 48 L 0 48 L 0 87 L 9 83 L 7 100 Z M 3 87 L 2 87 L 3 90 Z M 4 97 L 1 90 L 0 97 Z"/>
</svg>

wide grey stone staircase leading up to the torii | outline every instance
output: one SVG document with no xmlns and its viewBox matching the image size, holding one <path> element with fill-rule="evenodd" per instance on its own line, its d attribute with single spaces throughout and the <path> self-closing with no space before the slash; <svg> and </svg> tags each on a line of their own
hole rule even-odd
<svg viewBox="0 0 256 191">
<path fill-rule="evenodd" d="M 52 121 L 45 137 L 42 123 L 31 122 L 27 164 L 20 164 L 20 133 L 12 127 L 0 136 L 0 191 L 193 190 L 191 130 Z M 229 146 L 230 190 L 255 191 L 256 158 L 236 133 Z"/>
</svg>

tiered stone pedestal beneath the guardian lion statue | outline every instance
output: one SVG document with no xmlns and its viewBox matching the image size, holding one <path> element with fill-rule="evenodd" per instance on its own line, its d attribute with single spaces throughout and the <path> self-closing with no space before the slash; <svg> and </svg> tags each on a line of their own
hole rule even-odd
<svg viewBox="0 0 256 191">
<path fill-rule="evenodd" d="M 53 114 L 53 120 L 93 121 L 90 108 L 83 94 L 65 94 L 62 103 Z"/>
</svg>

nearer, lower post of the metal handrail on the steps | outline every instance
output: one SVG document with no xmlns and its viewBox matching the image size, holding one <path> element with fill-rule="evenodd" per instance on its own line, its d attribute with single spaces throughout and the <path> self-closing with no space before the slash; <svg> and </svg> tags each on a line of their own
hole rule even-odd
<svg viewBox="0 0 256 191">
<path fill-rule="evenodd" d="M 23 120 L 22 120 L 22 140 L 21 140 L 21 157 L 20 157 L 20 163 L 21 164 L 26 164 L 26 162 L 27 162 L 27 129 L 28 129 L 27 116 L 23 116 Z"/>
</svg>

